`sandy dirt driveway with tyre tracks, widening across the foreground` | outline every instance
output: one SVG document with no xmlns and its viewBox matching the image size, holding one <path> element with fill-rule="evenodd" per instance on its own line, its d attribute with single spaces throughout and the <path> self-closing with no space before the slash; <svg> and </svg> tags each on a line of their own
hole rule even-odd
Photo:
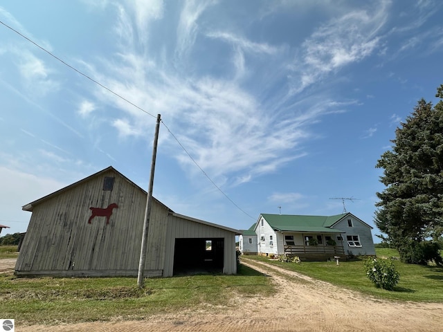
<svg viewBox="0 0 443 332">
<path fill-rule="evenodd" d="M 15 331 L 443 331 L 443 304 L 374 299 L 269 264 L 242 262 L 272 278 L 278 293 L 239 297 L 232 308 L 216 313 L 208 309 L 142 321 L 16 326 Z"/>
</svg>

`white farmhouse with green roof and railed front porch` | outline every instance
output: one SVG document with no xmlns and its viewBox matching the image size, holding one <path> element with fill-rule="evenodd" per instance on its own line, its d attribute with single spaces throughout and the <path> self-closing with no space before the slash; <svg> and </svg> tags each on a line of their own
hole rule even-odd
<svg viewBox="0 0 443 332">
<path fill-rule="evenodd" d="M 335 216 L 260 214 L 257 222 L 242 232 L 239 247 L 244 254 L 256 251 L 258 255 L 294 255 L 305 260 L 375 255 L 371 230 L 349 212 Z M 254 239 L 256 249 L 252 247 Z"/>
</svg>

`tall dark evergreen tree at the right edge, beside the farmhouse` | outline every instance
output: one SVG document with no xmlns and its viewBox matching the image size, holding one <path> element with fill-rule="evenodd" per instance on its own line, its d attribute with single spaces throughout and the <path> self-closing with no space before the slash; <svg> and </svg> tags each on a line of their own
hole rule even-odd
<svg viewBox="0 0 443 332">
<path fill-rule="evenodd" d="M 443 99 L 443 84 L 436 97 Z M 377 192 L 375 224 L 403 261 L 441 262 L 435 243 L 443 234 L 442 100 L 435 107 L 419 100 L 392 143 L 377 163 L 384 169 L 380 181 L 386 189 Z"/>
</svg>

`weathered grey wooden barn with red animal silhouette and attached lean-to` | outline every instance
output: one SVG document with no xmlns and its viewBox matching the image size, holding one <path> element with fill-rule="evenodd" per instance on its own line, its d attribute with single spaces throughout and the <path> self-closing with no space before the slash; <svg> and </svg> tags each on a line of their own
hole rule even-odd
<svg viewBox="0 0 443 332">
<path fill-rule="evenodd" d="M 147 192 L 108 167 L 23 210 L 32 212 L 19 276 L 136 276 Z M 174 213 L 153 199 L 144 275 L 237 273 L 238 230 Z"/>
</svg>

